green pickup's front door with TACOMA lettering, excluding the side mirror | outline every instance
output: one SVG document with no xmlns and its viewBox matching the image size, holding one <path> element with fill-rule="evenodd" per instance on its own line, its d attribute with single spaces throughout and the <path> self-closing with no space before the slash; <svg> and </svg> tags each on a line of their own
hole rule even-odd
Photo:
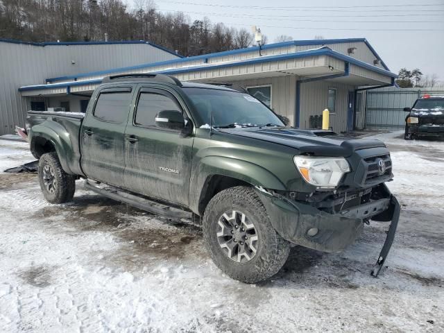
<svg viewBox="0 0 444 333">
<path fill-rule="evenodd" d="M 136 100 L 125 134 L 125 187 L 188 205 L 193 137 L 155 125 L 155 117 L 161 110 L 185 114 L 185 103 L 173 91 L 152 87 L 142 87 Z"/>
</svg>

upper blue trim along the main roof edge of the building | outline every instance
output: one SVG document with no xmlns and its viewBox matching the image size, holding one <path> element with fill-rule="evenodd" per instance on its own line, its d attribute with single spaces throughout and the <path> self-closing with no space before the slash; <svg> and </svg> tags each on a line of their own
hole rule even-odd
<svg viewBox="0 0 444 333">
<path fill-rule="evenodd" d="M 377 56 L 377 53 L 374 51 L 373 47 L 368 44 L 368 41 L 365 38 L 343 38 L 343 39 L 336 39 L 336 40 L 292 40 L 289 42 L 280 42 L 280 43 L 274 43 L 274 44 L 266 44 L 262 46 L 262 49 L 276 49 L 280 47 L 286 47 L 286 46 L 306 46 L 306 45 L 320 45 L 320 44 L 338 44 L 338 43 L 350 43 L 350 42 L 364 42 L 367 46 L 369 46 L 370 50 L 375 53 L 375 56 Z M 259 46 L 251 46 L 247 47 L 245 49 L 237 49 L 237 50 L 230 50 L 230 51 L 223 51 L 223 52 L 217 52 L 217 53 L 209 53 L 209 54 L 203 54 L 200 56 L 193 56 L 188 58 L 182 58 L 182 59 L 173 59 L 173 60 L 166 60 L 161 62 L 153 62 L 153 63 L 147 63 L 142 65 L 135 65 L 130 67 L 119 67 L 115 69 L 107 69 L 103 71 L 90 71 L 88 73 L 81 73 L 76 75 L 69 75 L 69 76 L 59 76 L 57 78 L 47 78 L 46 82 L 52 82 L 52 81 L 58 81 L 58 80 L 76 80 L 77 78 L 84 78 L 87 76 L 96 76 L 96 75 L 102 75 L 102 74 L 113 74 L 113 73 L 119 73 L 122 71 L 131 71 L 135 69 L 141 69 L 146 67 L 154 67 L 154 66 L 163 66 L 163 65 L 173 65 L 177 64 L 178 62 L 189 62 L 189 61 L 195 61 L 200 59 L 208 59 L 208 58 L 216 58 L 216 57 L 223 57 L 223 56 L 232 56 L 234 54 L 239 53 L 247 53 L 247 52 L 254 52 L 259 51 Z M 384 62 L 381 60 L 381 64 L 384 66 L 384 68 L 388 71 L 388 67 L 385 66 Z"/>
</svg>

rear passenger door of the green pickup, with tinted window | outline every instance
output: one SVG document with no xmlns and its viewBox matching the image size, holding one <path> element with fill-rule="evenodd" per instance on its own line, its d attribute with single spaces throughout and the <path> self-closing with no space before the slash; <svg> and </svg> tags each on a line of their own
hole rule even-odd
<svg viewBox="0 0 444 333">
<path fill-rule="evenodd" d="M 81 165 L 88 178 L 123 187 L 125 169 L 124 134 L 130 104 L 131 86 L 104 87 L 82 123 Z"/>
</svg>

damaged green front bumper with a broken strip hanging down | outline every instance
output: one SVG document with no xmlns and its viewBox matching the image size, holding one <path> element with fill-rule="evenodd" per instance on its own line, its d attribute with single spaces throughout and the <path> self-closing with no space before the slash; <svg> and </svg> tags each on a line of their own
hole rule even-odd
<svg viewBox="0 0 444 333">
<path fill-rule="evenodd" d="M 341 252 L 364 230 L 364 221 L 391 221 L 386 241 L 372 271 L 377 276 L 391 248 L 400 216 L 400 205 L 386 185 L 384 198 L 370 203 L 349 207 L 336 214 L 318 210 L 309 204 L 289 200 L 267 191 L 258 191 L 273 228 L 280 236 L 293 244 L 321 250 L 323 252 Z"/>
</svg>

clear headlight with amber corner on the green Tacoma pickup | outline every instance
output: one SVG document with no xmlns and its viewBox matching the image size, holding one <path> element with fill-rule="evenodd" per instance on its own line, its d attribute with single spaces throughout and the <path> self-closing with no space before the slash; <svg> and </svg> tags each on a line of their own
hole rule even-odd
<svg viewBox="0 0 444 333">
<path fill-rule="evenodd" d="M 343 157 L 295 156 L 294 163 L 306 182 L 326 189 L 338 186 L 342 176 L 350 172 Z"/>
</svg>

